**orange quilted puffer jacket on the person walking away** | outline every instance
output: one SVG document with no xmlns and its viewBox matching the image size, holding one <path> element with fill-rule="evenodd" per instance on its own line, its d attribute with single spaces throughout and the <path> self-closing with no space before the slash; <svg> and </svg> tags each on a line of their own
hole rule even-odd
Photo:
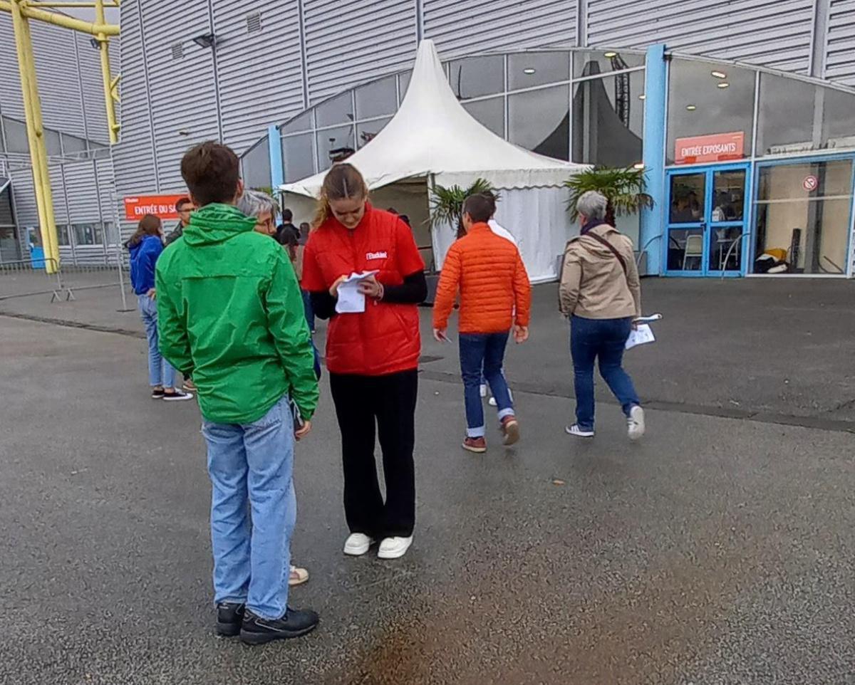
<svg viewBox="0 0 855 685">
<path fill-rule="evenodd" d="M 439 274 L 433 302 L 433 328 L 445 330 L 460 292 L 461 333 L 509 331 L 514 323 L 528 325 L 531 284 L 516 245 L 486 224 L 451 245 Z"/>
</svg>

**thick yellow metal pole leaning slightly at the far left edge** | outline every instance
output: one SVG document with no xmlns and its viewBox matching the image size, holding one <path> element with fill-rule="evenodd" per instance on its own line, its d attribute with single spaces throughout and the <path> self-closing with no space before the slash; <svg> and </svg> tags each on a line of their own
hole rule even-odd
<svg viewBox="0 0 855 685">
<path fill-rule="evenodd" d="M 38 224 L 44 243 L 44 266 L 53 273 L 59 265 L 59 246 L 56 241 L 56 223 L 53 216 L 53 201 L 50 196 L 50 173 L 47 152 L 44 148 L 41 104 L 38 102 L 35 60 L 32 55 L 27 18 L 21 11 L 21 0 L 11 0 L 12 25 L 15 30 L 15 48 L 18 52 L 18 71 L 21 73 L 21 91 L 27 119 L 27 143 L 30 147 L 32 180 L 38 207 Z"/>
</svg>

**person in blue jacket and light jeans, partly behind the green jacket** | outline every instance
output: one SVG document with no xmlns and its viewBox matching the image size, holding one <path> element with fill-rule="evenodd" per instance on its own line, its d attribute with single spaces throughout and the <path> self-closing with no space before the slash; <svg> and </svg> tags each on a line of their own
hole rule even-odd
<svg viewBox="0 0 855 685">
<path fill-rule="evenodd" d="M 175 369 L 162 358 L 157 348 L 157 291 L 155 265 L 163 251 L 163 225 L 154 214 L 139 221 L 137 231 L 127 241 L 131 253 L 131 284 L 137 296 L 139 315 L 145 325 L 149 343 L 149 383 L 151 399 L 166 401 L 192 400 L 193 395 L 175 389 Z"/>
</svg>

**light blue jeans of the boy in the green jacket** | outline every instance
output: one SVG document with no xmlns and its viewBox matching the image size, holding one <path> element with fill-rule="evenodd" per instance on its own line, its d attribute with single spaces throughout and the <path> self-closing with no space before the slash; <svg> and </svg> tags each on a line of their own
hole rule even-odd
<svg viewBox="0 0 855 685">
<path fill-rule="evenodd" d="M 252 424 L 204 421 L 202 434 L 213 486 L 214 600 L 245 603 L 262 618 L 281 618 L 297 520 L 288 397 Z"/>
</svg>

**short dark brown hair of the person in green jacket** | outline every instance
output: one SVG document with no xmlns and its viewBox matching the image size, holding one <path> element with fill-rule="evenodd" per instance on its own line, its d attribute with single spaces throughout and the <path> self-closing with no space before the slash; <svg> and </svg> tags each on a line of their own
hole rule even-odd
<svg viewBox="0 0 855 685">
<path fill-rule="evenodd" d="M 212 140 L 187 150 L 181 176 L 200 207 L 212 202 L 233 202 L 238 194 L 240 162 L 234 150 Z"/>
</svg>

